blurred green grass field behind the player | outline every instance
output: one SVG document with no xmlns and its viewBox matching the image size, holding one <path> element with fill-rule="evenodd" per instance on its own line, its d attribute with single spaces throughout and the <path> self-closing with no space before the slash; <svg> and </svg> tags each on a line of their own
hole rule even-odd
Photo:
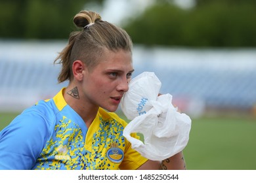
<svg viewBox="0 0 256 183">
<path fill-rule="evenodd" d="M 0 130 L 17 114 L 0 113 Z M 184 149 L 187 169 L 256 169 L 256 118 L 212 116 L 192 119 Z"/>
</svg>

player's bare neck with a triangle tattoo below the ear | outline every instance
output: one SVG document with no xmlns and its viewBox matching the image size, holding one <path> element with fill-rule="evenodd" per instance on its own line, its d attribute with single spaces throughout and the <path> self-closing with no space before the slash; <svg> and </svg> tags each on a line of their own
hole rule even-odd
<svg viewBox="0 0 256 183">
<path fill-rule="evenodd" d="M 99 107 L 86 101 L 80 94 L 79 88 L 68 86 L 63 93 L 63 97 L 66 103 L 81 116 L 87 127 L 89 127 L 95 119 Z"/>
</svg>

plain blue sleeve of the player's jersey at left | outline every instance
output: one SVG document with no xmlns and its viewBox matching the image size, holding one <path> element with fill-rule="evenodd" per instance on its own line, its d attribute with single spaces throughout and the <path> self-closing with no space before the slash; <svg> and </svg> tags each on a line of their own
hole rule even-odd
<svg viewBox="0 0 256 183">
<path fill-rule="evenodd" d="M 49 135 L 45 116 L 23 112 L 0 132 L 0 169 L 32 169 Z"/>
</svg>

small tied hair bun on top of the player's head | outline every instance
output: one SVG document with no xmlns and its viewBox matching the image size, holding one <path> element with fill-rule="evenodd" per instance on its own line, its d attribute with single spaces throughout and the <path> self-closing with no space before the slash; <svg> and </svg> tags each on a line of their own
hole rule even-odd
<svg viewBox="0 0 256 183">
<path fill-rule="evenodd" d="M 101 20 L 100 14 L 93 11 L 82 10 L 75 15 L 73 21 L 77 27 L 84 28 L 94 24 L 97 20 Z"/>
</svg>

